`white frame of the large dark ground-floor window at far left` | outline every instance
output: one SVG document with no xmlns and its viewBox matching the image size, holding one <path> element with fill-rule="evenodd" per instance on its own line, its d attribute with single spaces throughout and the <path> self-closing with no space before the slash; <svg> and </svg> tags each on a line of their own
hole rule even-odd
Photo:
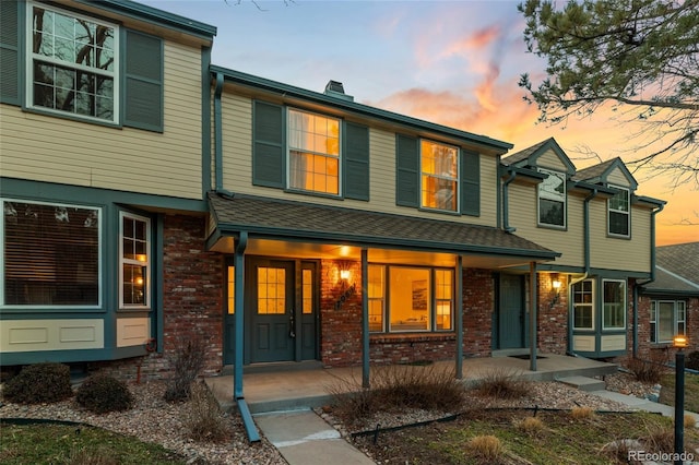
<svg viewBox="0 0 699 465">
<path fill-rule="evenodd" d="M 0 242 L 5 243 L 4 236 L 4 220 L 5 213 L 4 206 L 5 202 L 9 203 L 31 203 L 35 205 L 50 205 L 50 206 L 61 206 L 67 208 L 82 208 L 82 210 L 92 210 L 97 212 L 97 303 L 96 305 L 15 305 L 15 303 L 5 303 L 4 296 L 4 283 L 5 283 L 5 260 L 4 260 L 4 248 L 0 250 L 0 308 L 16 308 L 22 310 L 36 310 L 36 309 L 51 309 L 51 310 L 64 310 L 67 308 L 70 309 L 99 309 L 102 308 L 103 302 L 103 293 L 104 293 L 104 281 L 103 281 L 103 248 L 104 248 L 104 236 L 103 236 L 103 215 L 104 210 L 99 206 L 93 205 L 80 205 L 73 203 L 62 203 L 62 202 L 43 202 L 27 199 L 16 199 L 16 198 L 0 198 L 0 204 L 3 206 L 3 214 L 0 217 Z M 16 212 L 20 214 L 20 212 Z"/>
</svg>

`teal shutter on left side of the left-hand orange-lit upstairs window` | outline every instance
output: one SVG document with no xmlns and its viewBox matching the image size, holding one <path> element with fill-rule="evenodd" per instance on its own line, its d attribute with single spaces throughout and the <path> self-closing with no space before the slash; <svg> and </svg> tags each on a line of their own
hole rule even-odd
<svg viewBox="0 0 699 465">
<path fill-rule="evenodd" d="M 284 188 L 284 108 L 265 102 L 254 102 L 252 120 L 252 183 Z"/>
</svg>

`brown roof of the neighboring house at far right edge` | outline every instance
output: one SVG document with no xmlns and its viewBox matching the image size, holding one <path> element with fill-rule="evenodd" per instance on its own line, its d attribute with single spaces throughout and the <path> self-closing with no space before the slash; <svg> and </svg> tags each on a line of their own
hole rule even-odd
<svg viewBox="0 0 699 465">
<path fill-rule="evenodd" d="M 655 248 L 655 281 L 647 294 L 699 296 L 699 242 Z"/>
</svg>

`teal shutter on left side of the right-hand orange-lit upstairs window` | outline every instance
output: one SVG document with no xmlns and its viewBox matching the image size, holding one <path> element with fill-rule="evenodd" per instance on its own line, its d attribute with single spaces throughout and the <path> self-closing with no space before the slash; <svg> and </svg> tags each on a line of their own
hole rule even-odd
<svg viewBox="0 0 699 465">
<path fill-rule="evenodd" d="M 419 206 L 419 145 L 416 138 L 395 138 L 395 204 Z"/>
</svg>

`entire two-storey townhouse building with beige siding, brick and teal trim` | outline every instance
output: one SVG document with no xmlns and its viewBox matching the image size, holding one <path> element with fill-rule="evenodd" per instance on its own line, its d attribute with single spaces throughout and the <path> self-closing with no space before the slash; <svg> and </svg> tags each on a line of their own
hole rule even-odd
<svg viewBox="0 0 699 465">
<path fill-rule="evenodd" d="M 502 158 L 335 81 L 215 67 L 213 26 L 139 3 L 0 4 L 3 366 L 154 375 L 194 336 L 209 373 L 636 342 L 664 202 L 618 158 Z"/>
</svg>

